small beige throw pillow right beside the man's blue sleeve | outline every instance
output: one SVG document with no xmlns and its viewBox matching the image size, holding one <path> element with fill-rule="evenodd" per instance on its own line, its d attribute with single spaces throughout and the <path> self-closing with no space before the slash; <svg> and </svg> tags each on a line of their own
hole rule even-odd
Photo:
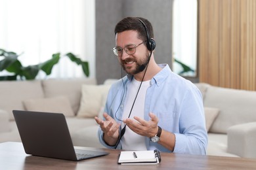
<svg viewBox="0 0 256 170">
<path fill-rule="evenodd" d="M 219 114 L 219 109 L 213 108 L 213 107 L 204 107 L 204 114 L 205 114 L 206 129 L 208 132 L 214 120 L 217 118 Z"/>
</svg>

